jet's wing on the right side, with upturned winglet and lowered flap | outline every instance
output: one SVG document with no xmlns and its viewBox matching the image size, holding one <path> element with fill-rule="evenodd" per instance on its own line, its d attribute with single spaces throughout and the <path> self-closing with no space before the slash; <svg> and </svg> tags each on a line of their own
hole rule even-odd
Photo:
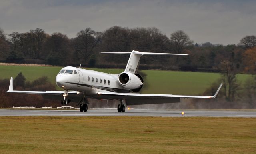
<svg viewBox="0 0 256 154">
<path fill-rule="evenodd" d="M 188 96 L 172 94 L 136 94 L 136 93 L 117 93 L 117 92 L 98 92 L 98 97 L 102 99 L 126 99 L 126 105 L 140 104 L 160 104 L 177 103 L 180 98 L 216 98 L 223 83 L 220 84 L 214 96 Z"/>
</svg>

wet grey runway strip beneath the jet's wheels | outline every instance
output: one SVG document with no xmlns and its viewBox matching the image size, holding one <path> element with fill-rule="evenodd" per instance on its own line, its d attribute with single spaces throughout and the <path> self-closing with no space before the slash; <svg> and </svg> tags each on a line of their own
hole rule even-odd
<svg viewBox="0 0 256 154">
<path fill-rule="evenodd" d="M 184 115 L 181 113 L 184 112 Z M 140 110 L 130 109 L 118 113 L 116 109 L 79 110 L 13 110 L 0 109 L 0 116 L 162 116 L 162 117 L 256 117 L 255 111 L 213 111 L 213 110 Z"/>
</svg>

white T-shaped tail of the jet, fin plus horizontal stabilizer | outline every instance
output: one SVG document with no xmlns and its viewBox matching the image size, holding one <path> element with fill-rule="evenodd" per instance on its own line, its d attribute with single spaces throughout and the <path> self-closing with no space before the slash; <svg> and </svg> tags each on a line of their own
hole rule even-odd
<svg viewBox="0 0 256 154">
<path fill-rule="evenodd" d="M 133 50 L 132 52 L 100 52 L 106 54 L 130 54 L 130 58 L 125 68 L 125 72 L 130 72 L 136 74 L 138 71 L 138 65 L 140 62 L 140 57 L 142 55 L 182 55 L 186 56 L 188 54 L 168 54 L 168 53 L 155 53 L 155 52 L 138 52 Z"/>
</svg>

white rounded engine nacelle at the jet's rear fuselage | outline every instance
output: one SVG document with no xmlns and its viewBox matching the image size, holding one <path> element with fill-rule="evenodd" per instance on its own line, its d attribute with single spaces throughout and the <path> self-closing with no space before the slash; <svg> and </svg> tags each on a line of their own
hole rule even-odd
<svg viewBox="0 0 256 154">
<path fill-rule="evenodd" d="M 118 81 L 124 88 L 130 90 L 140 89 L 143 86 L 143 80 L 130 72 L 122 72 L 119 74 Z"/>
</svg>

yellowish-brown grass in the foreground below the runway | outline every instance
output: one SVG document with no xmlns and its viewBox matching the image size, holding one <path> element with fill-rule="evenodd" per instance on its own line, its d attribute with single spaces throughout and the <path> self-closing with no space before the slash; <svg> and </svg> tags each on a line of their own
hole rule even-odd
<svg viewBox="0 0 256 154">
<path fill-rule="evenodd" d="M 0 117 L 2 154 L 254 154 L 255 118 Z"/>
</svg>

